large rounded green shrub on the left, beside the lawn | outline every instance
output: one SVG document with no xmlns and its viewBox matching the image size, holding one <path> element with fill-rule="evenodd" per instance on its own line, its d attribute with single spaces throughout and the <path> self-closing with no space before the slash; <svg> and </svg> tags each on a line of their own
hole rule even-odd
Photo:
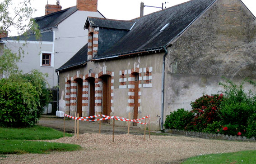
<svg viewBox="0 0 256 164">
<path fill-rule="evenodd" d="M 32 126 L 38 120 L 37 106 L 39 94 L 31 83 L 0 80 L 0 126 Z"/>
</svg>

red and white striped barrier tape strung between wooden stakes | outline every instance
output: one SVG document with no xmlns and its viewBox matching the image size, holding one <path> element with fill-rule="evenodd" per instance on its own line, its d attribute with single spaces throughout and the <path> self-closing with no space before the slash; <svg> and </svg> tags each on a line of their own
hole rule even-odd
<svg viewBox="0 0 256 164">
<path fill-rule="evenodd" d="M 81 120 L 81 121 L 101 121 L 101 120 L 115 119 L 115 120 L 118 120 L 118 121 L 130 121 L 130 122 L 135 122 L 135 123 L 139 123 L 139 124 L 148 124 L 148 123 L 138 122 L 138 120 L 144 120 L 146 118 L 150 119 L 150 115 L 147 115 L 147 116 L 142 117 L 140 119 L 134 119 L 134 120 L 126 119 L 124 117 L 108 116 L 108 115 L 93 115 L 93 116 L 88 116 L 88 117 L 74 117 L 74 116 L 65 114 L 65 116 L 69 117 L 71 119 Z M 102 116 L 103 118 L 95 119 L 95 120 L 88 120 L 89 118 L 95 118 L 95 117 L 100 117 L 100 116 Z"/>
</svg>

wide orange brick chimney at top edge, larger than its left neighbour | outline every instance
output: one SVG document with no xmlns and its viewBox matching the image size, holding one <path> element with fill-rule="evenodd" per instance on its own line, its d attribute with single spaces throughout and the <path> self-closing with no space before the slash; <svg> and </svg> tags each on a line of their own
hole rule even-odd
<svg viewBox="0 0 256 164">
<path fill-rule="evenodd" d="M 80 11 L 97 12 L 98 0 L 76 0 L 76 7 Z"/>
</svg>

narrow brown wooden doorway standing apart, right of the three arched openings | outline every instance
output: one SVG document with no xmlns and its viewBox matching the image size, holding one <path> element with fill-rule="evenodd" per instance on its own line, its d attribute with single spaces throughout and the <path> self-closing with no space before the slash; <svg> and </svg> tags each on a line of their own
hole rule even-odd
<svg viewBox="0 0 256 164">
<path fill-rule="evenodd" d="M 138 106 L 139 106 L 139 73 L 134 72 L 134 112 L 133 119 L 138 119 Z M 133 123 L 134 126 L 137 126 L 137 123 Z"/>
</svg>

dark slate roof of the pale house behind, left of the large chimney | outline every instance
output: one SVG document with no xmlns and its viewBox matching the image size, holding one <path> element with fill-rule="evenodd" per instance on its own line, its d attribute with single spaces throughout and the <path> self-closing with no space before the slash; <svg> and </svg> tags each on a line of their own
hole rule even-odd
<svg viewBox="0 0 256 164">
<path fill-rule="evenodd" d="M 63 20 L 68 18 L 72 13 L 74 13 L 76 10 L 76 6 L 70 7 L 55 13 L 50 13 L 48 15 L 44 15 L 42 17 L 34 18 L 39 26 L 39 30 L 47 30 L 51 29 L 52 27 L 56 27 L 59 23 L 61 23 Z"/>
</svg>

